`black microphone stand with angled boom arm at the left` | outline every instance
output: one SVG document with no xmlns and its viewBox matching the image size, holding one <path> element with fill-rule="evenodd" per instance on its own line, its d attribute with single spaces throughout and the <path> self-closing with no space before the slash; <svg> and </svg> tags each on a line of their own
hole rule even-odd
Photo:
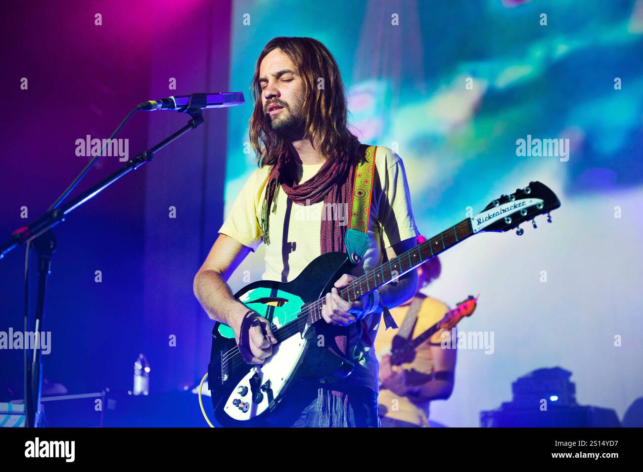
<svg viewBox="0 0 643 472">
<path fill-rule="evenodd" d="M 177 139 L 179 136 L 201 126 L 203 124 L 203 108 L 205 105 L 206 94 L 192 94 L 187 107 L 183 110 L 179 110 L 179 112 L 185 112 L 192 117 L 185 127 L 163 139 L 163 141 L 156 144 L 156 146 L 136 155 L 136 157 L 127 161 L 120 170 L 117 170 L 108 177 L 105 177 L 105 179 L 101 180 L 98 184 L 89 188 L 81 195 L 78 195 L 78 197 L 74 198 L 70 202 L 59 205 L 59 207 L 42 214 L 42 216 L 34 220 L 32 223 L 29 223 L 27 226 L 12 232 L 11 239 L 0 245 L 0 259 L 10 252 L 10 250 L 15 249 L 17 246 L 25 244 L 28 241 L 31 241 L 33 249 L 35 249 L 38 254 L 38 290 L 36 298 L 34 337 L 36 344 L 33 349 L 31 364 L 26 365 L 25 372 L 25 426 L 29 428 L 37 428 L 39 426 L 41 416 L 42 360 L 40 352 L 41 349 L 39 346 L 41 342 L 42 324 L 44 321 L 44 301 L 47 288 L 47 275 L 51 272 L 51 256 L 57 247 L 57 241 L 53 236 L 51 228 L 60 222 L 64 222 L 69 213 L 80 207 L 80 205 L 91 200 L 91 198 L 96 197 L 96 195 L 111 186 L 111 184 L 116 182 L 116 180 L 123 177 L 123 175 L 132 170 L 138 169 L 140 166 L 145 164 L 145 162 L 151 161 L 154 158 L 154 153 L 172 143 L 172 141 Z M 28 346 L 25 345 L 24 349 L 28 349 Z"/>
</svg>

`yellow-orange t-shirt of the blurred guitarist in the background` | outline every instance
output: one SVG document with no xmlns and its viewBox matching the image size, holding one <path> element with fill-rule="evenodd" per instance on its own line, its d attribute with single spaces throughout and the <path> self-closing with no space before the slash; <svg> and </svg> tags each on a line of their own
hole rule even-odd
<svg viewBox="0 0 643 472">
<path fill-rule="evenodd" d="M 397 326 L 402 326 L 410 304 L 411 302 L 408 301 L 390 310 Z M 424 331 L 431 328 L 444 317 L 447 311 L 449 311 L 449 307 L 446 304 L 431 297 L 426 297 L 420 306 L 420 311 L 417 313 L 417 322 L 415 322 L 411 338 L 417 338 Z M 413 362 L 403 363 L 398 367 L 394 367 L 394 369 L 414 369 L 422 374 L 431 374 L 433 372 L 433 358 L 429 346 L 430 344 L 439 345 L 444 340 L 441 337 L 443 332 L 444 329 L 440 329 L 431 338 L 419 345 L 415 349 L 416 354 Z M 378 359 L 381 359 L 384 354 L 390 353 L 391 343 L 395 335 L 397 335 L 397 329 L 385 329 L 384 326 L 380 326 L 375 340 Z M 380 414 L 386 417 L 423 427 L 429 426 L 429 401 L 417 401 L 417 399 L 397 395 L 391 390 L 381 389 L 379 390 L 377 403 L 380 405 Z"/>
</svg>

